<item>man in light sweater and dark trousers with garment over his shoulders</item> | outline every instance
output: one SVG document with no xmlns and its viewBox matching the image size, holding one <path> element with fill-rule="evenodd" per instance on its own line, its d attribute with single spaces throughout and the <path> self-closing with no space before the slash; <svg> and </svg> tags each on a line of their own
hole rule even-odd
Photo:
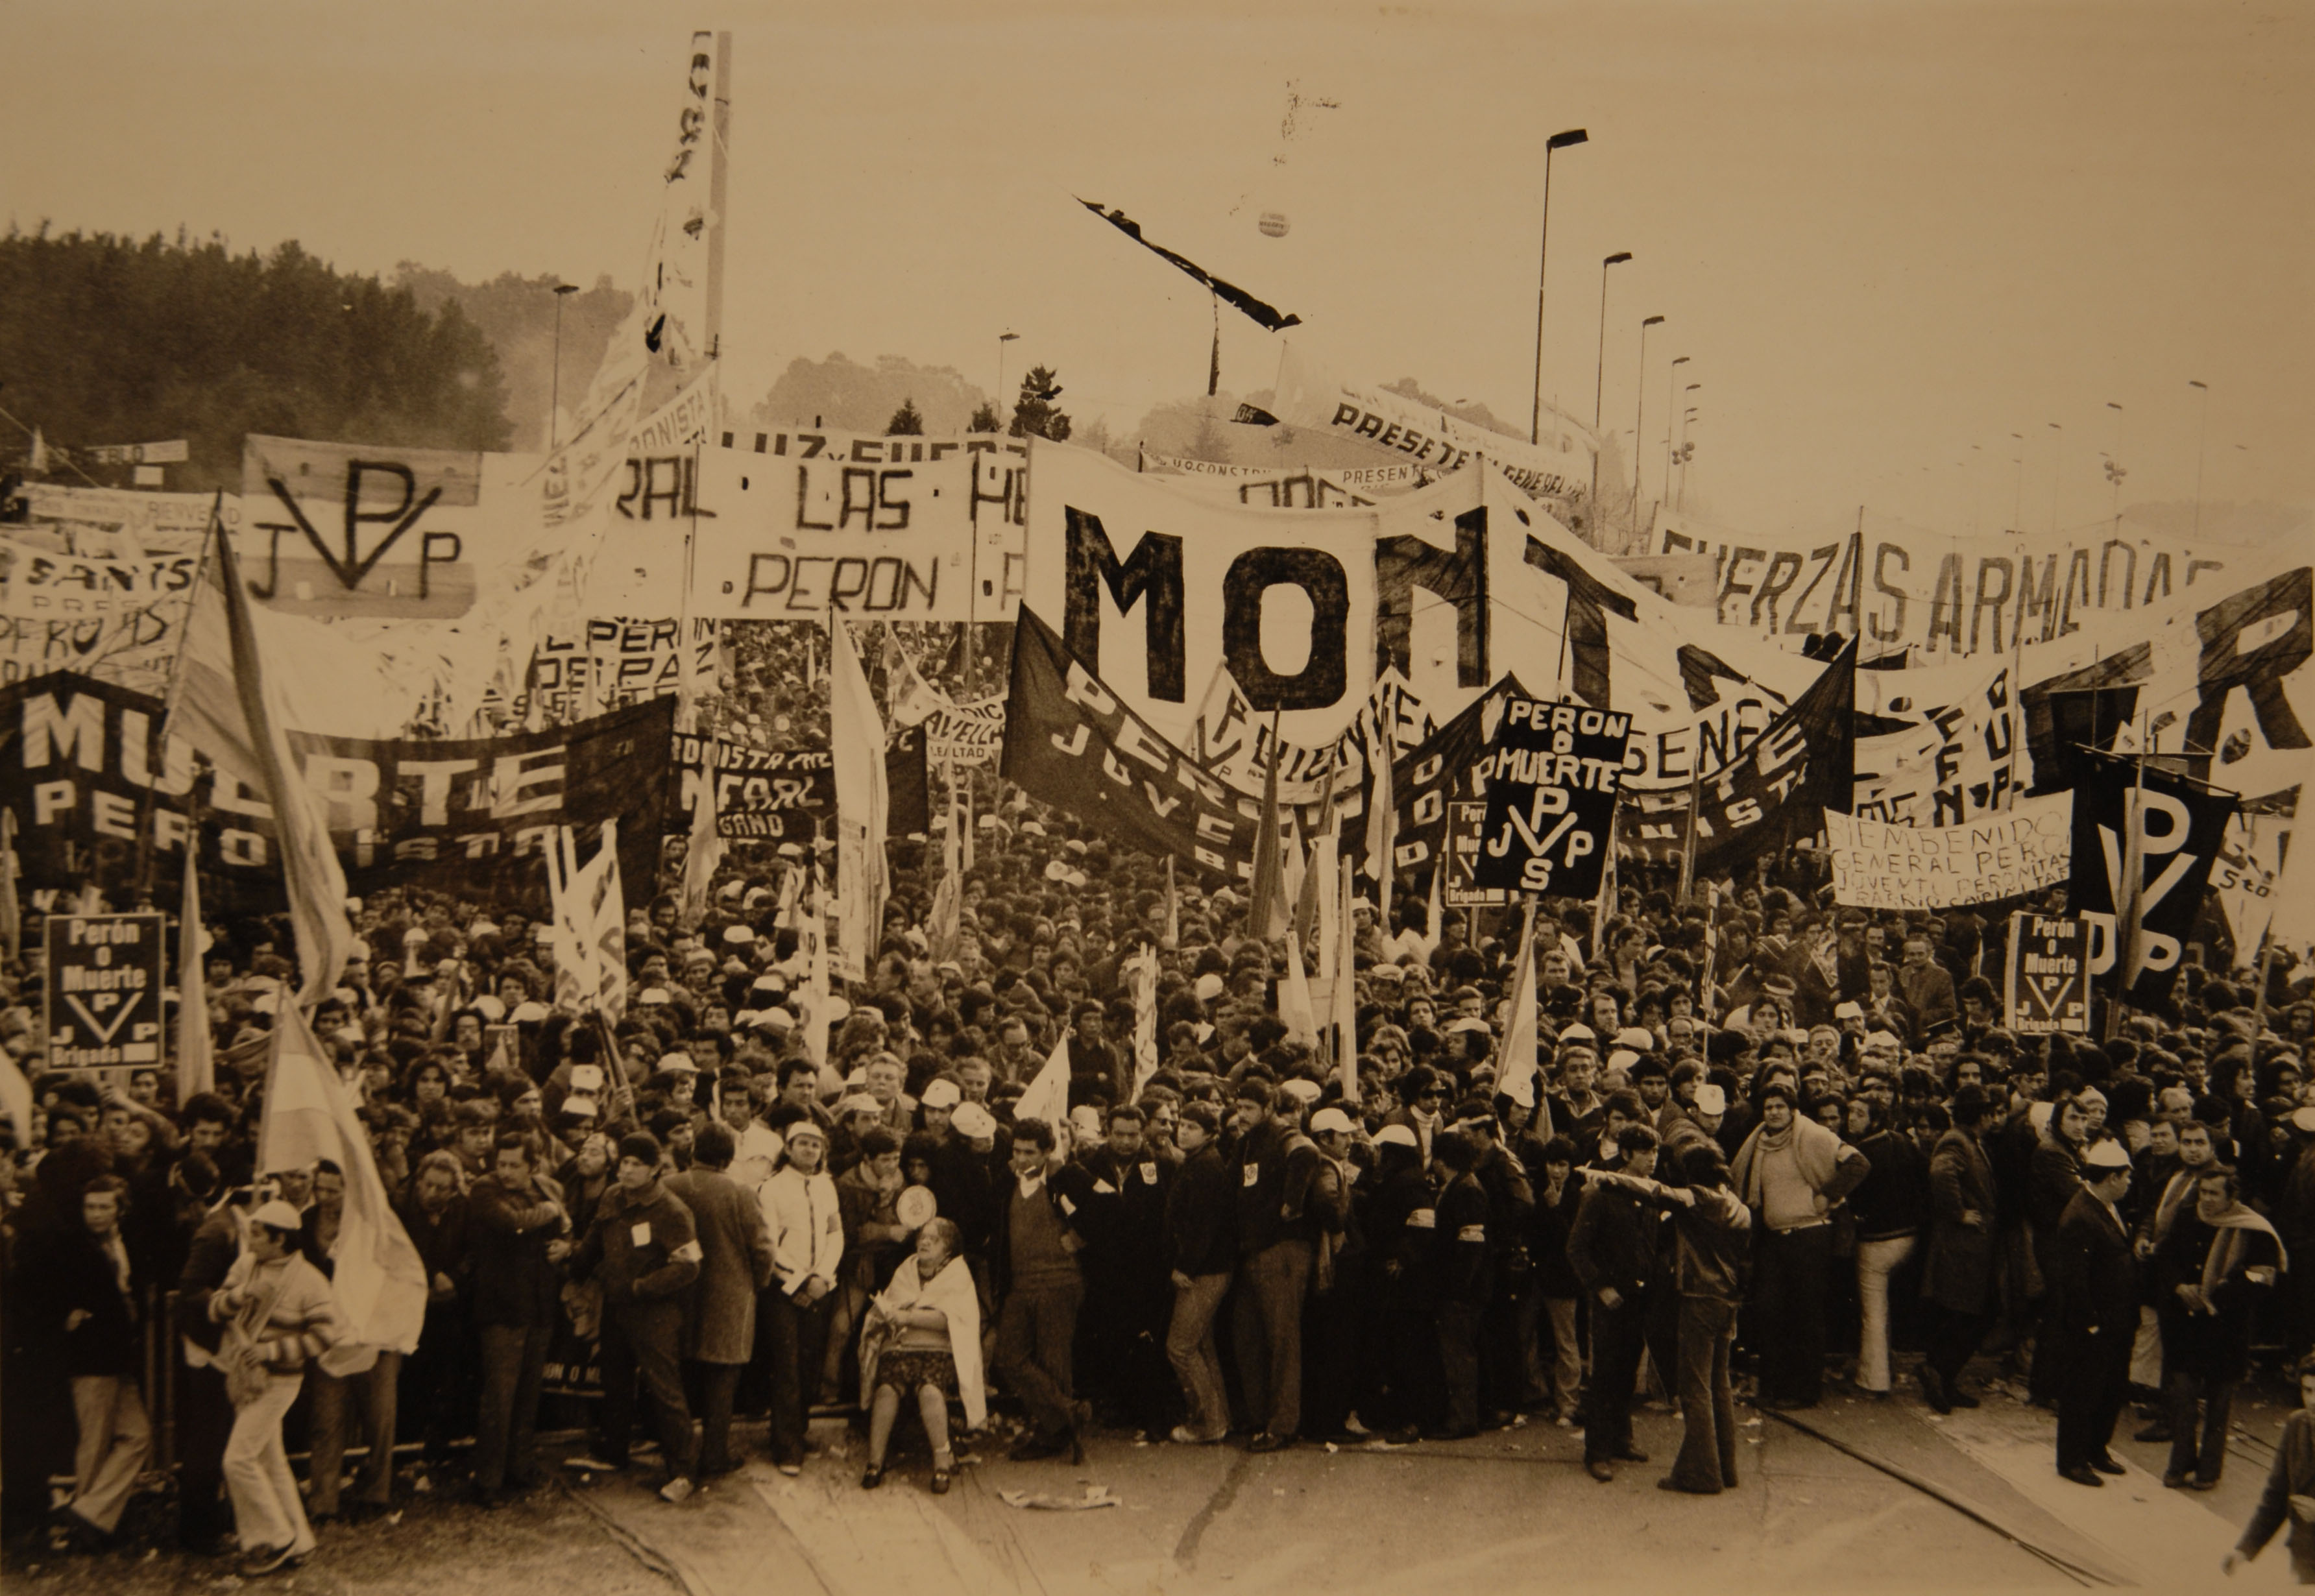
<svg viewBox="0 0 2315 1596">
<path fill-rule="evenodd" d="M 1729 1184 L 1755 1214 L 1748 1339 L 1759 1348 L 1759 1394 L 1771 1408 L 1813 1408 L 1822 1397 L 1831 1211 L 1871 1172 L 1861 1151 L 1794 1112 L 1789 1086 L 1759 1093 L 1759 1126 L 1736 1149 Z"/>
</svg>

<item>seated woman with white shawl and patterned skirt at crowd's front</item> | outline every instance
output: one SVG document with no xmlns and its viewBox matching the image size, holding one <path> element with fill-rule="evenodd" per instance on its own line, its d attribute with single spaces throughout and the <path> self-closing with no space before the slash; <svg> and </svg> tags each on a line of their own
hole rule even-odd
<svg viewBox="0 0 2315 1596">
<path fill-rule="evenodd" d="M 861 1325 L 861 1397 L 868 1406 L 868 1471 L 861 1489 L 884 1482 L 884 1452 L 901 1418 L 901 1397 L 917 1397 L 924 1438 L 933 1443 L 933 1494 L 949 1489 L 949 1397 L 965 1404 L 965 1427 L 989 1418 L 982 1385 L 982 1300 L 956 1255 L 956 1221 L 933 1218 L 917 1232 L 917 1255 L 868 1304 Z"/>
</svg>

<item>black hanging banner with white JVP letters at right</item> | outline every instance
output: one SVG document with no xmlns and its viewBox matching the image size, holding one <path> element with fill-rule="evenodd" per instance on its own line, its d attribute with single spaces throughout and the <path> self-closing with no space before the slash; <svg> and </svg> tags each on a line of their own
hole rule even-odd
<svg viewBox="0 0 2315 1596">
<path fill-rule="evenodd" d="M 2169 1001 L 2178 957 L 2202 913 L 2211 866 L 2227 822 L 2241 808 L 2234 792 L 2204 788 L 2148 762 L 2109 753 L 2077 753 L 2074 876 L 2067 910 L 2116 915 L 2127 908 L 2130 827 L 2139 829 L 2139 936 L 2130 950 L 2125 996 L 2139 1008 Z M 2111 966 L 2109 966 L 2111 968 Z"/>
</svg>

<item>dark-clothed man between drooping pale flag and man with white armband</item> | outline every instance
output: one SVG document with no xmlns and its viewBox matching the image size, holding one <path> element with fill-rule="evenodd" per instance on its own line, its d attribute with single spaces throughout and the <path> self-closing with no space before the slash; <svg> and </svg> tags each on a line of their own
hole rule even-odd
<svg viewBox="0 0 2315 1596">
<path fill-rule="evenodd" d="M 569 1253 L 569 1216 L 537 1179 L 530 1140 L 498 1137 L 491 1174 L 468 1191 L 468 1318 L 482 1362 L 475 1415 L 475 1494 L 491 1503 L 532 1482 L 532 1436 L 546 1344 L 560 1306 L 556 1265 Z"/>
</svg>

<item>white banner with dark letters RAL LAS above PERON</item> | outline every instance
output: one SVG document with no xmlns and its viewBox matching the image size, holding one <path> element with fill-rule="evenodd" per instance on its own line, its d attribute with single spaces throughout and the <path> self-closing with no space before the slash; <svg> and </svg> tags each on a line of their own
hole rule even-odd
<svg viewBox="0 0 2315 1596">
<path fill-rule="evenodd" d="M 727 429 L 627 463 L 588 591 L 595 614 L 1009 621 L 1021 598 L 1026 445 Z"/>
</svg>

